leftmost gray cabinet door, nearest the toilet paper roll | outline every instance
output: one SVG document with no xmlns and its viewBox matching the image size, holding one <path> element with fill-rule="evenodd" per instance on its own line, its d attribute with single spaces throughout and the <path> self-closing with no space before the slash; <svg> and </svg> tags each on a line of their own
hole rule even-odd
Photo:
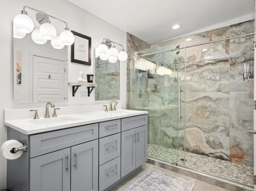
<svg viewBox="0 0 256 191">
<path fill-rule="evenodd" d="M 70 148 L 30 159 L 30 191 L 70 191 Z"/>
</svg>

